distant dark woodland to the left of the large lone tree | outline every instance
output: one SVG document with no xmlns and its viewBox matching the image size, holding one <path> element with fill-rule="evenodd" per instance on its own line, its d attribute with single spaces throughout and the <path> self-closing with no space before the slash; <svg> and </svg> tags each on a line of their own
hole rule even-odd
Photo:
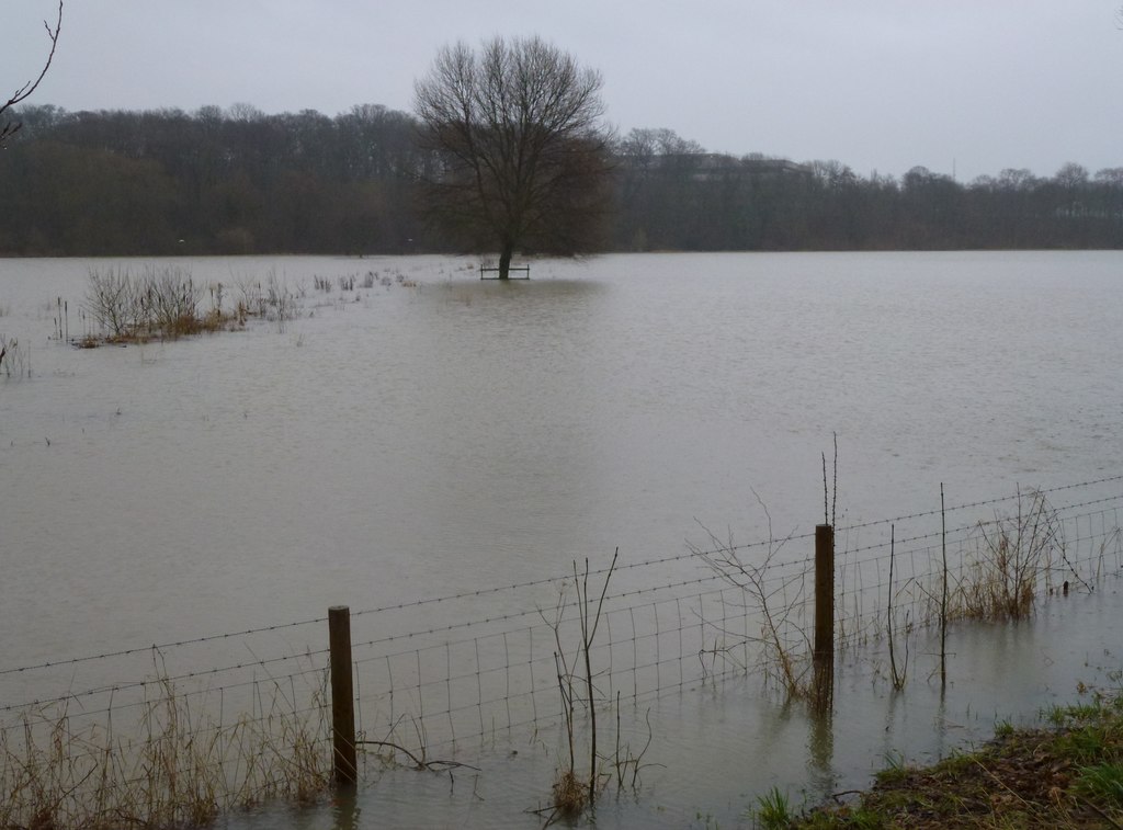
<svg viewBox="0 0 1123 830">
<path fill-rule="evenodd" d="M 25 107 L 0 155 L 8 254 L 401 253 L 424 164 L 410 116 Z M 412 241 L 411 241 L 412 240 Z"/>
</svg>

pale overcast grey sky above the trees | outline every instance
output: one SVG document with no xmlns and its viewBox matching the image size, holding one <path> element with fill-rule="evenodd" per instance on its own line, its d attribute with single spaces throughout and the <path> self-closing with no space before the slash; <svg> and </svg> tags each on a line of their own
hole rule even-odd
<svg viewBox="0 0 1123 830">
<path fill-rule="evenodd" d="M 0 0 L 0 89 L 57 0 Z M 960 181 L 1123 166 L 1123 0 L 67 0 L 29 103 L 410 110 L 444 44 L 540 35 L 604 75 L 621 133 Z M 4 89 L 7 92 L 8 90 Z"/>
</svg>

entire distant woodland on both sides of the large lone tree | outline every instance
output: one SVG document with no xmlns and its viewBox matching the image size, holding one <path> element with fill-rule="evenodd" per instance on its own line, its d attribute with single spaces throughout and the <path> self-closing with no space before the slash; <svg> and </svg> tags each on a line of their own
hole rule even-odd
<svg viewBox="0 0 1123 830">
<path fill-rule="evenodd" d="M 18 110 L 0 153 L 0 254 L 451 252 L 417 208 L 438 158 L 412 115 Z M 964 184 L 706 153 L 669 129 L 611 147 L 608 250 L 1123 247 L 1123 167 Z M 529 252 L 532 253 L 532 252 Z"/>
</svg>

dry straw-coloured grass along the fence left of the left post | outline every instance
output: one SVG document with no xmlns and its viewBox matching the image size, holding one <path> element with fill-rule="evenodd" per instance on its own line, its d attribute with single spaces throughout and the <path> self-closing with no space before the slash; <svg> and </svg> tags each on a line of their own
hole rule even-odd
<svg viewBox="0 0 1123 830">
<path fill-rule="evenodd" d="M 146 688 L 139 706 L 110 703 L 98 723 L 67 701 L 0 726 L 0 828 L 200 827 L 330 786 L 322 685 L 298 700 L 295 684 L 255 682 L 253 714 L 234 722 L 221 692 L 183 694 L 166 673 Z"/>
</svg>

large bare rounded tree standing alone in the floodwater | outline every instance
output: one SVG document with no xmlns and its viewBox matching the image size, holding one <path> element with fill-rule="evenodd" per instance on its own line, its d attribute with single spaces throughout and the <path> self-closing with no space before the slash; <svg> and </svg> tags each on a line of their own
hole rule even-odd
<svg viewBox="0 0 1123 830">
<path fill-rule="evenodd" d="M 597 243 L 608 199 L 601 74 L 538 37 L 444 47 L 414 83 L 436 155 L 424 209 L 478 249 L 575 254 Z"/>
</svg>

